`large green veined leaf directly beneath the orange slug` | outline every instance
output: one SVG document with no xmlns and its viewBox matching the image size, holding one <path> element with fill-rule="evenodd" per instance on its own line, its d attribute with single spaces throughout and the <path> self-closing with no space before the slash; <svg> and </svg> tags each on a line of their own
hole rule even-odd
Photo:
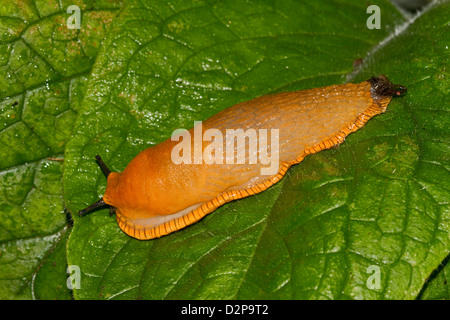
<svg viewBox="0 0 450 320">
<path fill-rule="evenodd" d="M 450 248 L 449 7 L 396 36 L 403 18 L 377 4 L 380 30 L 366 28 L 366 5 L 355 1 L 129 1 L 66 149 L 72 213 L 104 192 L 95 154 L 122 171 L 174 129 L 236 102 L 379 73 L 409 93 L 339 149 L 308 157 L 268 191 L 169 236 L 132 239 L 107 210 L 74 217 L 68 261 L 82 273 L 75 297 L 417 297 Z M 379 287 L 368 284 L 373 272 Z"/>
</svg>

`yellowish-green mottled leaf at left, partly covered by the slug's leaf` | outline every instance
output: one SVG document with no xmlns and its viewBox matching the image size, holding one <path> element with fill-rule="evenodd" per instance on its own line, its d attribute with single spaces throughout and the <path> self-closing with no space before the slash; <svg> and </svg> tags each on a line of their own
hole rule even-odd
<svg viewBox="0 0 450 320">
<path fill-rule="evenodd" d="M 70 299 L 62 199 L 65 143 L 120 2 L 6 1 L 0 7 L 0 299 Z"/>
</svg>

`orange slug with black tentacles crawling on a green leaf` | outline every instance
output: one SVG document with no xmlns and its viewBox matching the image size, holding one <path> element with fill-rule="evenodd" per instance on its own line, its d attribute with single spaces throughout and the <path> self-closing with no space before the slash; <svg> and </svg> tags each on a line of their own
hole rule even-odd
<svg viewBox="0 0 450 320">
<path fill-rule="evenodd" d="M 393 96 L 404 93 L 405 87 L 380 75 L 358 84 L 266 95 L 236 104 L 140 152 L 123 172 L 111 172 L 97 156 L 107 176 L 105 194 L 79 215 L 109 205 L 119 227 L 131 237 L 147 240 L 167 235 L 227 202 L 266 190 L 290 166 L 339 145 L 370 118 L 385 112 Z M 234 133 L 242 129 L 244 139 L 223 142 L 223 137 L 232 136 L 230 129 Z M 270 130 L 270 138 L 262 129 Z M 255 133 L 260 133 L 260 140 L 252 145 Z M 277 160 L 275 170 L 268 170 L 264 155 L 266 160 Z"/>
</svg>

